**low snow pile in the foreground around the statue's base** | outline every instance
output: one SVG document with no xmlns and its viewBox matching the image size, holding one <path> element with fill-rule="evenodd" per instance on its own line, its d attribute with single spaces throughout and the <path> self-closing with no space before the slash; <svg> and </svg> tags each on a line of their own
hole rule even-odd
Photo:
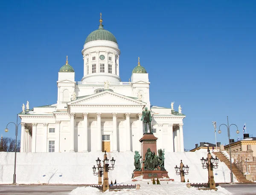
<svg viewBox="0 0 256 195">
<path fill-rule="evenodd" d="M 172 181 L 160 181 L 160 185 L 153 185 L 151 180 L 143 180 L 136 182 L 125 182 L 125 184 L 140 184 L 140 189 L 124 189 L 121 191 L 106 191 L 104 195 L 112 194 L 126 194 L 126 195 L 184 195 L 184 194 L 193 194 L 193 195 L 231 195 L 226 189 L 218 186 L 218 190 L 198 190 L 195 187 L 187 188 L 186 183 L 181 182 L 172 182 Z M 147 184 L 149 183 L 149 184 Z M 102 195 L 102 192 L 97 188 L 93 187 L 78 187 L 70 192 L 70 195 Z"/>
</svg>

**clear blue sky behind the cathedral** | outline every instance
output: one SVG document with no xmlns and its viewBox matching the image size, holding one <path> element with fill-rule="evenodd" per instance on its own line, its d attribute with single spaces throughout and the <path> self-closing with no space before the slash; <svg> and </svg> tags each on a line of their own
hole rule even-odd
<svg viewBox="0 0 256 195">
<path fill-rule="evenodd" d="M 256 2 L 67 1 L 0 2 L 0 133 L 15 138 L 22 103 L 30 108 L 57 101 L 58 70 L 69 64 L 83 77 L 81 50 L 99 25 L 119 44 L 120 77 L 128 81 L 141 65 L 149 73 L 151 105 L 175 101 L 186 115 L 185 149 L 215 143 L 212 121 L 235 123 L 256 137 Z M 227 128 L 217 141 L 228 143 Z M 231 138 L 238 138 L 236 128 Z M 20 137 L 20 126 L 19 126 Z"/>
</svg>

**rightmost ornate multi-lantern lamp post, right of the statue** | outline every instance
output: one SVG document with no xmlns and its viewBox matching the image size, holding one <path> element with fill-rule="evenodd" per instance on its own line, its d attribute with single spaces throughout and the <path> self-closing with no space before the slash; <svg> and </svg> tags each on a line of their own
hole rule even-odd
<svg viewBox="0 0 256 195">
<path fill-rule="evenodd" d="M 208 186 L 209 186 L 209 188 L 216 189 L 214 176 L 213 176 L 213 169 L 218 168 L 218 160 L 219 159 L 217 157 L 215 157 L 215 158 L 212 157 L 210 150 L 209 150 L 209 146 L 207 148 L 207 151 L 208 151 L 207 158 L 205 159 L 203 157 L 200 160 L 201 160 L 203 169 L 208 170 Z"/>
</svg>

